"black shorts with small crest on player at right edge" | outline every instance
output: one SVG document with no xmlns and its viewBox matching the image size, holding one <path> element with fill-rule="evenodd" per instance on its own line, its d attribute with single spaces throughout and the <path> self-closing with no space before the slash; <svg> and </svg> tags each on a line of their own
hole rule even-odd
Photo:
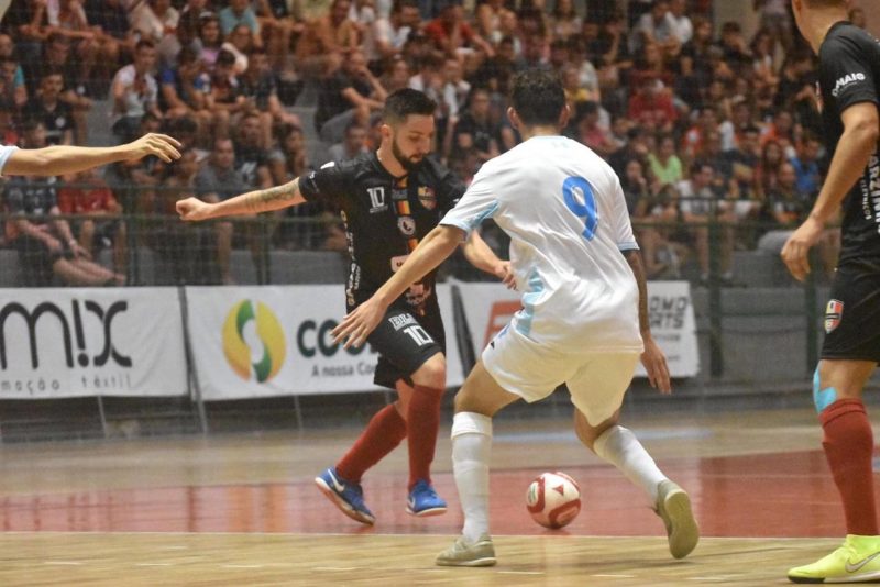
<svg viewBox="0 0 880 587">
<path fill-rule="evenodd" d="M 880 263 L 840 266 L 825 308 L 822 358 L 880 363 Z"/>
</svg>

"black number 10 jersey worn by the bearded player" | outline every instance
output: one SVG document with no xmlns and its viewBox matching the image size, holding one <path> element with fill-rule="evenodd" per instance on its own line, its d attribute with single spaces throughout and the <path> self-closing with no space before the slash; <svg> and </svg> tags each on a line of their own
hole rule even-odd
<svg viewBox="0 0 880 587">
<path fill-rule="evenodd" d="M 351 310 L 382 286 L 464 193 L 464 185 L 433 158 L 394 177 L 375 153 L 328 164 L 299 178 L 306 200 L 338 206 L 345 223 L 351 267 L 345 301 Z M 433 272 L 403 296 L 416 313 L 436 304 Z"/>
</svg>

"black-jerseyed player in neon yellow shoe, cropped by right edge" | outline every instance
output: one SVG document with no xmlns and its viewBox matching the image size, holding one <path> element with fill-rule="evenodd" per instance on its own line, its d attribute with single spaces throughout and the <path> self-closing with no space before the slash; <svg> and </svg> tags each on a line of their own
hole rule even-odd
<svg viewBox="0 0 880 587">
<path fill-rule="evenodd" d="M 843 248 L 825 313 L 825 342 L 813 379 L 823 447 L 846 513 L 843 546 L 789 571 L 794 583 L 880 579 L 871 457 L 873 435 L 861 401 L 880 362 L 880 42 L 846 22 L 846 0 L 792 0 L 801 33 L 820 57 L 825 140 L 834 153 L 810 217 L 782 250 L 792 275 L 843 206 Z"/>
</svg>

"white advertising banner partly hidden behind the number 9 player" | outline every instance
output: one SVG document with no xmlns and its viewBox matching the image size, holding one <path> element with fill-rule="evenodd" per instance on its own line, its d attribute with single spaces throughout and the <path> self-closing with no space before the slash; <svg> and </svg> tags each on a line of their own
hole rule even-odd
<svg viewBox="0 0 880 587">
<path fill-rule="evenodd" d="M 476 356 L 521 308 L 519 294 L 501 284 L 458 283 Z M 693 377 L 700 372 L 696 320 L 686 281 L 649 281 L 648 307 L 653 337 L 667 355 L 673 377 Z M 637 376 L 645 377 L 639 365 Z"/>
</svg>

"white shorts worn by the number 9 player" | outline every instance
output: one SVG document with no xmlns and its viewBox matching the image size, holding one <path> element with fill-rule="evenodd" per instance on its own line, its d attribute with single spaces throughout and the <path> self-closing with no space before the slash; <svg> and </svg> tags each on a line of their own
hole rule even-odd
<svg viewBox="0 0 880 587">
<path fill-rule="evenodd" d="M 495 383 L 529 403 L 565 384 L 572 403 L 587 422 L 598 425 L 620 408 L 640 355 L 637 351 L 560 353 L 506 328 L 482 358 Z"/>
</svg>

